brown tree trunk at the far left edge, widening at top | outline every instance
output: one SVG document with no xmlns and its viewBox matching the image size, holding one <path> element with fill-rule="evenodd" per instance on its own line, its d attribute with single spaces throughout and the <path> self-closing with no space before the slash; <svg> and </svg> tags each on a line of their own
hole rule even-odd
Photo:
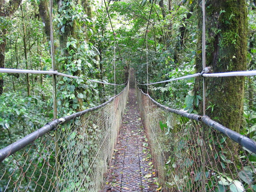
<svg viewBox="0 0 256 192">
<path fill-rule="evenodd" d="M 12 14 L 18 9 L 22 0 L 10 0 L 8 5 L 5 5 L 4 0 L 0 0 L 0 17 L 10 18 Z M 0 29 L 0 68 L 4 68 L 4 52 L 6 45 L 6 28 Z M 0 95 L 4 91 L 4 79 L 0 77 Z"/>
</svg>

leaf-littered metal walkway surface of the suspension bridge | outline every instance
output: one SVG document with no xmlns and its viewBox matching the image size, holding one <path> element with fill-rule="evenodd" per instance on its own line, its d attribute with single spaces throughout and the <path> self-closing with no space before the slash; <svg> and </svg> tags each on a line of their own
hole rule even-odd
<svg viewBox="0 0 256 192">
<path fill-rule="evenodd" d="M 104 192 L 156 191 L 157 178 L 147 145 L 135 89 L 131 87 Z"/>
</svg>

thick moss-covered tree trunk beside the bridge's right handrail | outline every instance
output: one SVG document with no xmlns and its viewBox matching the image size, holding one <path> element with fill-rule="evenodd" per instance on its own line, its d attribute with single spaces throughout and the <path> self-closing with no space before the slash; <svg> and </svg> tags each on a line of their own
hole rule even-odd
<svg viewBox="0 0 256 192">
<path fill-rule="evenodd" d="M 205 4 L 206 67 L 213 73 L 243 71 L 247 55 L 247 12 L 245 0 L 208 0 Z M 202 2 L 197 1 L 197 52 L 202 50 Z M 196 72 L 202 71 L 202 53 L 196 56 Z M 244 77 L 208 77 L 206 81 L 206 108 L 215 105 L 206 115 L 231 130 L 243 127 Z M 196 78 L 195 95 L 202 95 L 202 78 Z M 203 114 L 202 104 L 199 113 Z M 230 141 L 232 142 L 232 141 Z M 235 154 L 237 148 L 228 144 Z"/>
</svg>

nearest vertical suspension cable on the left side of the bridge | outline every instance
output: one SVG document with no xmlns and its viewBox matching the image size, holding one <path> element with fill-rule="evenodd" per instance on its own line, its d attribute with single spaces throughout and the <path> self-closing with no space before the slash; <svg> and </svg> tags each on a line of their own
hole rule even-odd
<svg viewBox="0 0 256 192">
<path fill-rule="evenodd" d="M 53 41 L 53 28 L 52 28 L 52 6 L 53 0 L 50 0 L 50 38 L 51 38 L 51 59 L 52 59 L 52 70 L 55 71 L 54 61 L 54 41 Z M 57 95 L 56 95 L 56 75 L 52 75 L 52 99 L 53 99 L 53 118 L 57 119 Z M 55 131 L 55 169 L 56 169 L 56 191 L 59 192 L 59 147 L 58 147 L 58 135 Z"/>
</svg>

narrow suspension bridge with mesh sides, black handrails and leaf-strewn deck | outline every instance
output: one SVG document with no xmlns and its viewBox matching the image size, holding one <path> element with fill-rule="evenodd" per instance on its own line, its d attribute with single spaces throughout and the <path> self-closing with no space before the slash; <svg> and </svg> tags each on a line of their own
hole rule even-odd
<svg viewBox="0 0 256 192">
<path fill-rule="evenodd" d="M 253 140 L 208 116 L 163 106 L 138 85 L 131 70 L 107 102 L 0 149 L 1 191 L 255 190 Z"/>
</svg>

